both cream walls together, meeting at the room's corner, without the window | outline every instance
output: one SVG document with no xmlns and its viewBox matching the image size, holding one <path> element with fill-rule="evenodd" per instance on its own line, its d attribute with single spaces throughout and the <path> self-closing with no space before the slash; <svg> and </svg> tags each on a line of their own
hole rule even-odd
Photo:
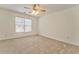
<svg viewBox="0 0 79 59">
<path fill-rule="evenodd" d="M 47 14 L 39 20 L 26 15 L 26 18 L 33 21 L 31 33 L 15 32 L 16 16 L 25 17 L 23 14 L 0 8 L 0 40 L 35 35 L 39 29 L 40 35 L 79 46 L 79 6 Z"/>
</svg>

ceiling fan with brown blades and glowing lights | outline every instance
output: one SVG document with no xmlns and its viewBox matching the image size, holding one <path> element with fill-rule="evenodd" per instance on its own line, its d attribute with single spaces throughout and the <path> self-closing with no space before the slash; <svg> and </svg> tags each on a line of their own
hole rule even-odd
<svg viewBox="0 0 79 59">
<path fill-rule="evenodd" d="M 46 12 L 46 10 L 44 8 L 40 7 L 39 4 L 34 4 L 32 6 L 32 8 L 30 8 L 30 7 L 24 7 L 24 8 L 31 9 L 32 10 L 31 14 L 33 14 L 33 15 L 38 15 L 41 12 Z"/>
</svg>

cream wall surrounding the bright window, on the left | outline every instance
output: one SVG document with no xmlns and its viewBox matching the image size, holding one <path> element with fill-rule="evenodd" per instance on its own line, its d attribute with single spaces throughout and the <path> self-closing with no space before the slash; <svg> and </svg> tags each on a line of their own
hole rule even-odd
<svg viewBox="0 0 79 59">
<path fill-rule="evenodd" d="M 15 17 L 25 17 L 24 14 L 0 8 L 0 39 L 8 39 L 14 37 L 21 37 L 27 35 L 35 35 L 38 33 L 38 20 L 36 17 L 26 15 L 26 18 L 32 19 L 32 32 L 30 33 L 16 33 L 15 32 Z"/>
</svg>

